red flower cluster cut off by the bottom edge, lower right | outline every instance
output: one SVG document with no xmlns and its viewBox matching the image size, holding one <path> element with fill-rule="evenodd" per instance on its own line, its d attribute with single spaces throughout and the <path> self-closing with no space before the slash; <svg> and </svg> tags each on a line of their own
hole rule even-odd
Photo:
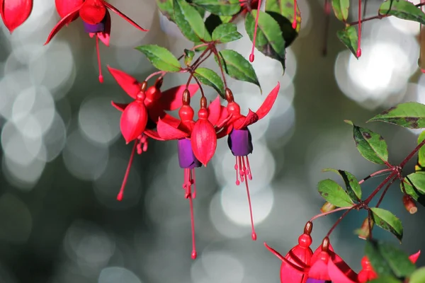
<svg viewBox="0 0 425 283">
<path fill-rule="evenodd" d="M 280 266 L 280 282 L 282 283 L 365 283 L 377 279 L 367 257 L 361 260 L 361 271 L 356 273 L 346 262 L 334 252 L 328 237 L 324 237 L 322 244 L 314 250 L 310 248 L 313 229 L 312 221 L 305 224 L 304 233 L 298 238 L 298 244 L 283 257 L 266 243 L 274 255 L 282 260 Z M 421 251 L 409 256 L 415 263 Z"/>
</svg>

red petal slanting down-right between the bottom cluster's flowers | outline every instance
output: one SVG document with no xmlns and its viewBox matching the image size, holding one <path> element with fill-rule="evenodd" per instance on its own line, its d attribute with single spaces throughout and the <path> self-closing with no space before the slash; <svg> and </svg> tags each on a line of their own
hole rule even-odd
<svg viewBox="0 0 425 283">
<path fill-rule="evenodd" d="M 329 277 L 332 282 L 356 283 L 358 275 L 336 253 L 330 252 L 331 260 L 328 262 Z"/>
</svg>

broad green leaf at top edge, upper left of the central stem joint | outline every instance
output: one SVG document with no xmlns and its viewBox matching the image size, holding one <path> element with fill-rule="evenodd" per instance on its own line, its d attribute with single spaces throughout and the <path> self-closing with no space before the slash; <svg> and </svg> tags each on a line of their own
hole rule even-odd
<svg viewBox="0 0 425 283">
<path fill-rule="evenodd" d="M 174 18 L 181 33 L 193 42 L 199 42 L 208 36 L 203 18 L 195 7 L 185 0 L 174 0 Z"/>
</svg>

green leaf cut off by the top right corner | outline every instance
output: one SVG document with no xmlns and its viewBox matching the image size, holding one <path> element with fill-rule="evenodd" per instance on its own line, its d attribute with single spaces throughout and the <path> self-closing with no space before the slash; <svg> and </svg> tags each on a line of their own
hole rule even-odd
<svg viewBox="0 0 425 283">
<path fill-rule="evenodd" d="M 405 0 L 385 1 L 379 7 L 380 15 L 391 15 L 403 20 L 415 21 L 425 25 L 425 13 L 412 2 Z"/>
</svg>

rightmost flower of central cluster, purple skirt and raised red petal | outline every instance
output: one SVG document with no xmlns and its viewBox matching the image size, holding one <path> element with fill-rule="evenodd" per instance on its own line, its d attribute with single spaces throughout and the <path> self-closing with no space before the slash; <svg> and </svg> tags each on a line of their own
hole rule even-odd
<svg viewBox="0 0 425 283">
<path fill-rule="evenodd" d="M 245 183 L 246 195 L 248 196 L 249 203 L 249 214 L 251 217 L 251 237 L 254 241 L 256 240 L 256 232 L 254 229 L 254 217 L 252 216 L 251 197 L 249 195 L 248 186 L 248 179 L 252 180 L 251 166 L 249 166 L 248 155 L 252 153 L 254 147 L 252 145 L 251 132 L 249 132 L 248 126 L 254 124 L 268 114 L 274 102 L 276 101 L 279 88 L 280 83 L 278 83 L 278 85 L 273 88 L 270 93 L 268 93 L 266 100 L 264 100 L 259 110 L 256 112 L 249 110 L 249 113 L 246 116 L 241 114 L 241 108 L 236 102 L 234 102 L 232 91 L 227 89 L 227 112 L 229 115 L 232 115 L 232 117 L 230 118 L 229 122 L 227 122 L 227 125 L 225 125 L 222 131 L 218 134 L 219 138 L 225 137 L 227 134 L 229 135 L 227 138 L 227 144 L 229 145 L 229 149 L 232 151 L 232 154 L 236 158 L 234 165 L 234 170 L 236 171 L 236 185 L 239 185 L 241 182 Z"/>
</svg>

